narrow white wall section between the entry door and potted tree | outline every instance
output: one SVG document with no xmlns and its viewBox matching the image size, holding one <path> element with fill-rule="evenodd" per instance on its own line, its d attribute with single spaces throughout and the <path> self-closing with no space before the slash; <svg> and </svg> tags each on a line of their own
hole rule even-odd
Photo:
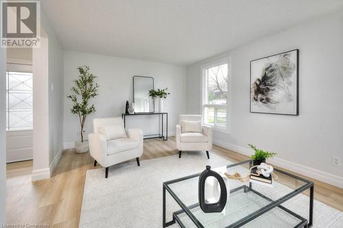
<svg viewBox="0 0 343 228">
<path fill-rule="evenodd" d="M 40 22 L 40 48 L 33 50 L 34 180 L 50 177 L 60 157 L 64 107 L 62 46 L 43 11 Z"/>
</svg>

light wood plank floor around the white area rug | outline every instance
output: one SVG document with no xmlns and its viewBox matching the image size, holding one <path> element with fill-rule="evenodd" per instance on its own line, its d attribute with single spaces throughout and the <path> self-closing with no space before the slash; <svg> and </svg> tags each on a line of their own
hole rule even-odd
<svg viewBox="0 0 343 228">
<path fill-rule="evenodd" d="M 231 162 L 248 159 L 221 147 L 214 147 L 211 152 Z M 167 141 L 145 140 L 141 160 L 177 153 L 174 137 Z M 93 162 L 88 153 L 77 154 L 71 149 L 66 150 L 53 177 L 34 182 L 31 181 L 32 161 L 8 164 L 7 223 L 46 223 L 51 227 L 78 227 L 86 170 L 101 168 L 94 167 Z M 315 182 L 315 199 L 343 211 L 342 189 L 311 180 Z M 279 181 L 290 187 L 298 184 L 283 176 L 279 177 Z"/>
</svg>

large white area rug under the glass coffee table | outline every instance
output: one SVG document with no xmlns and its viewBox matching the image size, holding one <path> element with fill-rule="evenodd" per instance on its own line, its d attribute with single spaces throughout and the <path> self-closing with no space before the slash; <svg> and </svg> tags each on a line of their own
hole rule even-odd
<svg viewBox="0 0 343 228">
<path fill-rule="evenodd" d="M 208 160 L 205 153 L 182 153 L 181 159 L 178 155 L 172 155 L 142 161 L 141 166 L 137 166 L 136 162 L 119 164 L 110 168 L 108 179 L 104 178 L 104 168 L 88 170 L 80 227 L 162 227 L 163 181 L 200 173 L 206 165 L 218 167 L 232 163 L 213 153 L 210 156 L 211 159 Z M 255 186 L 268 188 L 257 184 L 254 188 Z M 276 182 L 274 188 L 270 188 L 270 191 L 280 194 L 284 190 L 287 187 Z M 235 200 L 234 196 L 230 200 Z M 283 205 L 308 218 L 309 197 L 298 194 Z M 178 209 L 171 197 L 167 197 L 167 220 L 171 220 L 171 212 Z M 244 227 L 289 227 L 291 224 L 287 223 L 289 218 L 279 218 L 278 212 L 269 213 L 268 216 L 260 216 L 259 220 Z M 270 216 L 276 216 L 279 220 Z M 286 222 L 281 223 L 281 220 Z M 188 225 L 191 223 L 187 223 L 187 227 Z M 209 225 L 220 226 L 216 223 Z M 343 213 L 314 201 L 314 227 L 343 227 Z"/>
</svg>

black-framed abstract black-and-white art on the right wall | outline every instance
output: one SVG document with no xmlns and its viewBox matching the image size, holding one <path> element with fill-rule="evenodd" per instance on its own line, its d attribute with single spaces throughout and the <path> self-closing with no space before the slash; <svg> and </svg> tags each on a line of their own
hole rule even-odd
<svg viewBox="0 0 343 228">
<path fill-rule="evenodd" d="M 250 61 L 250 112 L 297 116 L 299 50 Z"/>
</svg>

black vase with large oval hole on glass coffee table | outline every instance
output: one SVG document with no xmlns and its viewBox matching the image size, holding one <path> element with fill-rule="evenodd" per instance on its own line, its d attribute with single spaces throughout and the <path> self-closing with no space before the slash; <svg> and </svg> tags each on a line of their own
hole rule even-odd
<svg viewBox="0 0 343 228">
<path fill-rule="evenodd" d="M 206 203 L 205 201 L 205 181 L 207 177 L 215 177 L 220 184 L 220 197 L 216 203 Z M 226 205 L 227 192 L 223 177 L 211 170 L 211 166 L 206 166 L 206 170 L 199 176 L 199 205 L 203 212 L 214 213 L 222 212 Z"/>
</svg>

